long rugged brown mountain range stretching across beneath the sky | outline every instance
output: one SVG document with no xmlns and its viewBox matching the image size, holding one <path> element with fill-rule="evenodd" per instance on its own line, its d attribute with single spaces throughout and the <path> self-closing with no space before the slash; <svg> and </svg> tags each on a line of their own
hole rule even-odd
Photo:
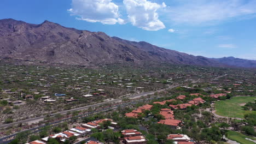
<svg viewBox="0 0 256 144">
<path fill-rule="evenodd" d="M 212 67 L 256 67 L 255 61 L 206 58 L 164 49 L 144 41 L 109 37 L 44 21 L 39 25 L 0 20 L 0 58 L 45 64 L 98 65 L 113 63 L 171 63 Z"/>
</svg>

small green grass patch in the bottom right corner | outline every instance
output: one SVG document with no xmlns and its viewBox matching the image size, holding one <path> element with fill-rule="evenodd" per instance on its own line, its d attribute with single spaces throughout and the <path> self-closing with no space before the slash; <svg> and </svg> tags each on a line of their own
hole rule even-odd
<svg viewBox="0 0 256 144">
<path fill-rule="evenodd" d="M 233 140 L 233 141 L 237 141 L 241 144 L 255 144 L 254 142 L 252 141 L 249 141 L 249 140 L 246 140 L 245 138 L 249 138 L 249 139 L 252 139 L 252 140 L 256 140 L 255 137 L 251 137 L 251 136 L 246 136 L 246 135 L 243 135 L 241 133 L 238 133 L 236 131 L 228 131 L 228 139 L 230 140 Z"/>
</svg>

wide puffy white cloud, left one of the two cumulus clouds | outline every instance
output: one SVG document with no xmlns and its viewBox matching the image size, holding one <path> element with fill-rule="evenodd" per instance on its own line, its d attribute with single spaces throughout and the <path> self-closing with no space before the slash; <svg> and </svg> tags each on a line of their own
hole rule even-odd
<svg viewBox="0 0 256 144">
<path fill-rule="evenodd" d="M 68 11 L 72 15 L 79 16 L 78 20 L 88 22 L 101 22 L 103 24 L 114 25 L 115 23 L 124 24 L 120 18 L 118 5 L 112 0 L 72 0 L 72 8 Z"/>
</svg>

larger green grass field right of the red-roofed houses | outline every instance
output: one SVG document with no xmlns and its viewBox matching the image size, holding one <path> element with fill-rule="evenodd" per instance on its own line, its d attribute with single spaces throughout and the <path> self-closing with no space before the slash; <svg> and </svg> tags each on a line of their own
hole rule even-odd
<svg viewBox="0 0 256 144">
<path fill-rule="evenodd" d="M 216 114 L 225 117 L 243 118 L 246 113 L 255 113 L 256 111 L 242 110 L 241 104 L 254 101 L 256 97 L 234 97 L 228 100 L 216 101 L 214 104 Z"/>
</svg>

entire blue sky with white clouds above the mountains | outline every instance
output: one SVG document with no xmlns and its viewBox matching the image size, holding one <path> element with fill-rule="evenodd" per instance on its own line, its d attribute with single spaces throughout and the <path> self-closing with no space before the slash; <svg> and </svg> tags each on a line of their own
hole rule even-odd
<svg viewBox="0 0 256 144">
<path fill-rule="evenodd" d="M 255 0 L 1 0 L 0 19 L 44 20 L 206 57 L 256 59 Z"/>
</svg>

